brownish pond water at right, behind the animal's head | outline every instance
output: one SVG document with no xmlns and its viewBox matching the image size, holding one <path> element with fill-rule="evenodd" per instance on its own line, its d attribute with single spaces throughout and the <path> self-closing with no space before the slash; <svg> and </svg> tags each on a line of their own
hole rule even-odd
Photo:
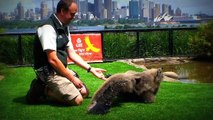
<svg viewBox="0 0 213 120">
<path fill-rule="evenodd" d="M 184 83 L 213 83 L 213 62 L 190 61 L 181 64 L 150 64 L 147 68 L 163 67 L 163 71 L 173 71 Z"/>
</svg>

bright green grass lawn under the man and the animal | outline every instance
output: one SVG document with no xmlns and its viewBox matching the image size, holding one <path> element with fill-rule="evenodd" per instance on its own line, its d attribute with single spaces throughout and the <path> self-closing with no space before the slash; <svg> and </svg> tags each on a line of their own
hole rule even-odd
<svg viewBox="0 0 213 120">
<path fill-rule="evenodd" d="M 2 67 L 3 66 L 3 67 Z M 106 69 L 109 74 L 127 70 L 141 71 L 120 62 L 92 64 Z M 81 106 L 58 104 L 28 105 L 25 94 L 35 77 L 30 67 L 8 68 L 0 64 L 0 120 L 210 120 L 213 118 L 213 84 L 184 84 L 162 82 L 155 103 L 122 102 L 106 115 L 86 113 L 94 92 L 103 81 L 81 68 L 70 65 L 89 87 L 90 98 Z"/>
</svg>

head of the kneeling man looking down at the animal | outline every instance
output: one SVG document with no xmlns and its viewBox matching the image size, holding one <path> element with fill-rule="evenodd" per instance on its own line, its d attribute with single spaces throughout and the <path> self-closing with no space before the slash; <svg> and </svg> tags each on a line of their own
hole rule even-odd
<svg viewBox="0 0 213 120">
<path fill-rule="evenodd" d="M 60 0 L 57 5 L 57 16 L 64 25 L 68 25 L 78 11 L 74 0 Z"/>
</svg>

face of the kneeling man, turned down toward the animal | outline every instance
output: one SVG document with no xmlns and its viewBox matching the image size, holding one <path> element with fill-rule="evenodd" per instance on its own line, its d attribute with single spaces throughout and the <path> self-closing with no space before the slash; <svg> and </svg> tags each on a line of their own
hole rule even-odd
<svg viewBox="0 0 213 120">
<path fill-rule="evenodd" d="M 70 21 L 75 17 L 78 7 L 76 3 L 72 3 L 68 11 L 64 12 L 64 24 L 68 25 Z"/>
</svg>

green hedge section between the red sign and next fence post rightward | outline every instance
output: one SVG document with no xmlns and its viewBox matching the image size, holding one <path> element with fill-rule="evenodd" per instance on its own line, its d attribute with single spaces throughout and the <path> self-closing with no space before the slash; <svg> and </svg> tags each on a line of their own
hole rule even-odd
<svg viewBox="0 0 213 120">
<path fill-rule="evenodd" d="M 105 59 L 121 59 L 135 57 L 136 35 L 133 33 L 104 34 Z"/>
</svg>

